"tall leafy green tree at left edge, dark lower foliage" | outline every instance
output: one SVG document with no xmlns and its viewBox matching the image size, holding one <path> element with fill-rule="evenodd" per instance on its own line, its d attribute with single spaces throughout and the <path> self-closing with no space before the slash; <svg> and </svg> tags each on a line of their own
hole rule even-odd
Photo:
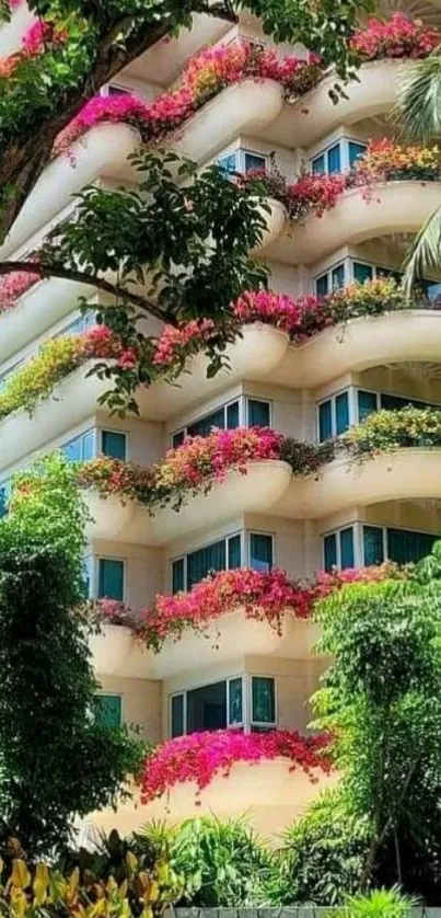
<svg viewBox="0 0 441 918">
<path fill-rule="evenodd" d="M 0 521 L 0 839 L 35 858 L 113 804 L 142 745 L 94 716 L 83 606 L 85 512 L 59 456 L 18 477 Z"/>
</svg>

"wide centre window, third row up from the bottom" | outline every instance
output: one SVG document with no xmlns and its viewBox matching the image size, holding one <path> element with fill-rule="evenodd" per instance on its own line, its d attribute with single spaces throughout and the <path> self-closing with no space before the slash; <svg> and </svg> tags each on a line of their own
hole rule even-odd
<svg viewBox="0 0 441 918">
<path fill-rule="evenodd" d="M 172 434 L 173 448 L 176 449 L 185 437 L 207 437 L 213 429 L 234 431 L 236 427 L 270 427 L 271 403 L 264 399 L 241 395 L 233 402 L 220 405 L 210 414 L 205 414 L 186 427 Z"/>
</svg>

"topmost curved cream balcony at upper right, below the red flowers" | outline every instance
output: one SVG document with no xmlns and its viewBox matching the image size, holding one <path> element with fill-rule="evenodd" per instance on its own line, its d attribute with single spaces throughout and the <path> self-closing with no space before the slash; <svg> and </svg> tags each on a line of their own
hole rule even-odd
<svg viewBox="0 0 441 918">
<path fill-rule="evenodd" d="M 265 139 L 283 147 L 307 148 L 341 124 L 353 125 L 390 112 L 396 103 L 399 83 L 413 64 L 413 60 L 364 64 L 357 72 L 358 80 L 345 87 L 348 97 L 339 99 L 337 105 L 329 96 L 336 77 L 329 73 L 293 104 L 283 105 Z"/>
</svg>

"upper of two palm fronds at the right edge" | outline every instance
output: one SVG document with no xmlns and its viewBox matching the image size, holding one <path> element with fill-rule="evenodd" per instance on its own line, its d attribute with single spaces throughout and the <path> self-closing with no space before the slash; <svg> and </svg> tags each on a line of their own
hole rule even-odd
<svg viewBox="0 0 441 918">
<path fill-rule="evenodd" d="M 441 137 L 441 47 L 407 71 L 393 118 L 398 130 L 418 142 Z"/>
</svg>

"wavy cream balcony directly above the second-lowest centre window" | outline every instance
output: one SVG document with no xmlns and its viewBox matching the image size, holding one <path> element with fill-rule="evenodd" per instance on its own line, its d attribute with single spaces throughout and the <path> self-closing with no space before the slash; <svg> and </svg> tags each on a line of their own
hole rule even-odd
<svg viewBox="0 0 441 918">
<path fill-rule="evenodd" d="M 93 521 L 89 539 L 107 539 L 144 546 L 163 546 L 216 520 L 217 525 L 244 513 L 269 513 L 291 481 L 291 468 L 276 459 L 249 462 L 247 473 L 231 471 L 227 480 L 214 483 L 208 494 L 197 494 L 181 510 L 158 509 L 150 516 L 146 507 L 118 496 L 101 498 L 84 492 Z"/>
</svg>

